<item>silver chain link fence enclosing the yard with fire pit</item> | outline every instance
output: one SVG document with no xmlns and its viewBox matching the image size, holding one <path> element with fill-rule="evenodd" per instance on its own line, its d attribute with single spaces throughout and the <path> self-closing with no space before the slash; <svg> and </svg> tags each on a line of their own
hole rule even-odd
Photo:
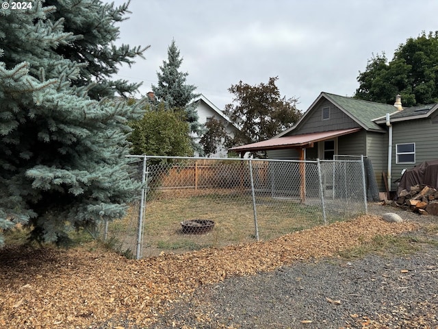
<svg viewBox="0 0 438 329">
<path fill-rule="evenodd" d="M 363 158 L 131 160 L 142 197 L 105 236 L 136 258 L 274 239 L 367 212 Z"/>
</svg>

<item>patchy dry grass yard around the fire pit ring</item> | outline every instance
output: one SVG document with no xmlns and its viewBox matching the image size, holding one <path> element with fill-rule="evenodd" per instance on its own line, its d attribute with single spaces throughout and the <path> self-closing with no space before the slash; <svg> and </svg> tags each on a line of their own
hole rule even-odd
<svg viewBox="0 0 438 329">
<path fill-rule="evenodd" d="M 156 197 L 146 203 L 144 217 L 144 256 L 161 252 L 187 252 L 205 247 L 223 247 L 256 241 L 253 202 L 250 195 L 207 194 L 188 197 Z M 305 230 L 324 223 L 318 205 L 301 204 L 292 199 L 257 198 L 259 240 Z M 208 219 L 215 222 L 205 234 L 184 234 L 181 222 Z M 127 227 L 123 219 L 109 230 Z M 136 229 L 129 235 L 136 238 Z"/>
</svg>

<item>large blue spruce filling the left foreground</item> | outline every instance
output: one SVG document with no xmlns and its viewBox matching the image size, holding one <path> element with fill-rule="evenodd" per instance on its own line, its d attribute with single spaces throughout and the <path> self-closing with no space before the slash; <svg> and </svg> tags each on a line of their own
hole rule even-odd
<svg viewBox="0 0 438 329">
<path fill-rule="evenodd" d="M 112 83 L 75 58 L 86 49 L 64 51 L 85 38 L 64 30 L 64 14 L 78 26 L 109 25 L 102 27 L 105 36 L 84 42 L 107 55 L 114 51 L 112 64 L 98 64 L 112 66 L 102 77 L 116 70 L 121 49 L 111 42 L 120 19 L 111 18 L 126 8 L 93 0 L 31 4 L 0 9 L 0 243 L 1 232 L 15 223 L 31 225 L 38 241 L 61 243 L 70 229 L 122 216 L 138 195 L 125 155 L 127 119 L 140 117 L 142 104 L 95 100 L 103 93 L 92 88 L 108 90 Z"/>
</svg>

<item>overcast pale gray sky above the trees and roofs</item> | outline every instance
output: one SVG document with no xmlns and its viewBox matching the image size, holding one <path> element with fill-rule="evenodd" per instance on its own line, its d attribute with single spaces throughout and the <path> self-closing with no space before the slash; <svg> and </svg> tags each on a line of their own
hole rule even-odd
<svg viewBox="0 0 438 329">
<path fill-rule="evenodd" d="M 437 0 L 132 0 L 129 10 L 118 42 L 151 47 L 118 77 L 145 95 L 175 39 L 187 83 L 221 110 L 232 84 L 275 76 L 303 112 L 322 91 L 352 96 L 373 54 L 391 60 L 407 38 L 438 30 Z"/>
</svg>

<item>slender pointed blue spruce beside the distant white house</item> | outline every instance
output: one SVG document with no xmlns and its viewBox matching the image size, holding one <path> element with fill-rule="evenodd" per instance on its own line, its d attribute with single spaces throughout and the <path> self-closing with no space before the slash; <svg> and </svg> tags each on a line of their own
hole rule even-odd
<svg viewBox="0 0 438 329">
<path fill-rule="evenodd" d="M 192 102 L 199 94 L 194 94 L 196 86 L 185 83 L 188 73 L 179 71 L 182 62 L 183 58 L 180 57 L 175 40 L 172 40 L 168 47 L 168 60 L 164 60 L 163 65 L 159 66 L 161 73 L 157 72 L 158 85 L 153 85 L 152 90 L 157 101 L 163 101 L 170 109 L 185 111 L 185 120 L 189 123 L 192 132 L 192 145 L 195 151 L 202 154 L 202 147 L 195 139 L 203 134 L 203 129 L 198 121 L 196 104 Z"/>
</svg>

